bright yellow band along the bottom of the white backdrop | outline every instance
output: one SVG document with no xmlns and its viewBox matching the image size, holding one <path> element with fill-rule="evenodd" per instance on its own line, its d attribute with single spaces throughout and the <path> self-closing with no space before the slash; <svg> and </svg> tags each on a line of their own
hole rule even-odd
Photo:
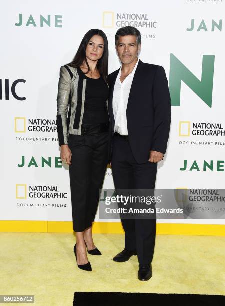
<svg viewBox="0 0 225 306">
<path fill-rule="evenodd" d="M 73 232 L 71 221 L 0 221 L 0 232 Z M 123 233 L 121 222 L 95 222 L 94 233 Z M 157 223 L 156 234 L 225 236 L 225 225 Z"/>
</svg>

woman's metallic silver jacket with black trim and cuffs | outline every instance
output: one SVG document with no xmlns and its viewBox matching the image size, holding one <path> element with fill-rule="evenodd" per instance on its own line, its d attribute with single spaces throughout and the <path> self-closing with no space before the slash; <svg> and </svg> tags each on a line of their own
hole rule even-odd
<svg viewBox="0 0 225 306">
<path fill-rule="evenodd" d="M 81 135 L 86 81 L 76 68 L 61 66 L 57 95 L 57 130 L 59 145 L 68 144 L 68 134 Z M 108 101 L 106 101 L 108 107 Z"/>
</svg>

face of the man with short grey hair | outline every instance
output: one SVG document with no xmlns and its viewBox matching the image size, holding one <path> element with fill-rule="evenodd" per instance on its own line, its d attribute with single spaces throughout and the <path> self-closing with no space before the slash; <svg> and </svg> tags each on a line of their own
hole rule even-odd
<svg viewBox="0 0 225 306">
<path fill-rule="evenodd" d="M 137 45 L 135 35 L 120 36 L 117 41 L 116 50 L 123 64 L 130 64 L 138 58 L 140 45 Z"/>
</svg>

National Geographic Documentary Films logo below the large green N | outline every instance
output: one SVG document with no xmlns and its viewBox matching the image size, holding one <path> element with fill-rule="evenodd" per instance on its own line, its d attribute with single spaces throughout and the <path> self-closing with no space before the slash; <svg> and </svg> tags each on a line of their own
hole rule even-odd
<svg viewBox="0 0 225 306">
<path fill-rule="evenodd" d="M 225 130 L 222 123 L 202 123 L 191 121 L 179 122 L 179 137 L 224 137 Z M 210 139 L 211 140 L 211 139 Z M 225 145 L 225 142 L 219 141 L 179 141 L 179 144 L 186 145 Z"/>
</svg>

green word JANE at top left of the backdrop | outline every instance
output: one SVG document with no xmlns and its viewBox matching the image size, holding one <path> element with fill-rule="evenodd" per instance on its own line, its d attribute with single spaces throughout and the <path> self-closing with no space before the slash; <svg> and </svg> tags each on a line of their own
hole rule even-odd
<svg viewBox="0 0 225 306">
<path fill-rule="evenodd" d="M 62 27 L 62 15 L 39 15 L 38 17 L 33 17 L 32 15 L 24 16 L 19 14 L 18 22 L 15 26 L 24 27 Z"/>
</svg>

